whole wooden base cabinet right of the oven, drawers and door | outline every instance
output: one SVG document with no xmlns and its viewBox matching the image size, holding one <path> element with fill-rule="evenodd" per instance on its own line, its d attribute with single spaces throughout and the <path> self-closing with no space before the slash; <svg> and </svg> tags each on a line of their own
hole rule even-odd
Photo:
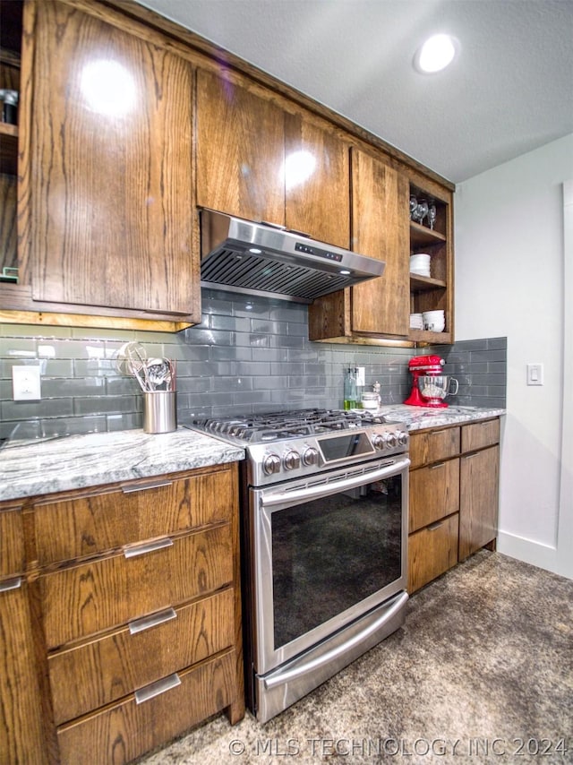
<svg viewBox="0 0 573 765">
<path fill-rule="evenodd" d="M 410 434 L 410 593 L 495 544 L 499 442 L 499 417 Z"/>
</svg>

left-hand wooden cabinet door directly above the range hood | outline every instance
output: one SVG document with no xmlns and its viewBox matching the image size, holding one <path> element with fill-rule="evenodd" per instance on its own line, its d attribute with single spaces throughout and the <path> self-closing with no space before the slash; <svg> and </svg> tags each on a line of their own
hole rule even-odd
<svg viewBox="0 0 573 765">
<path fill-rule="evenodd" d="M 197 204 L 285 224 L 285 122 L 225 74 L 197 73 Z"/>
</svg>

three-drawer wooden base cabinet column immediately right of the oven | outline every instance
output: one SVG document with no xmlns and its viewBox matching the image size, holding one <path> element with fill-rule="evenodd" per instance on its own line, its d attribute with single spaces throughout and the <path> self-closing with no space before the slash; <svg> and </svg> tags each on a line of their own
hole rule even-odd
<svg viewBox="0 0 573 765">
<path fill-rule="evenodd" d="M 410 435 L 410 593 L 458 563 L 459 450 L 459 427 Z"/>
</svg>

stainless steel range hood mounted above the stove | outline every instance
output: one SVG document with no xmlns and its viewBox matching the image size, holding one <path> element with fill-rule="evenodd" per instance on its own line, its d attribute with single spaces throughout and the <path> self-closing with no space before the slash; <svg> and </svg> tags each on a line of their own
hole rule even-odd
<svg viewBox="0 0 573 765">
<path fill-rule="evenodd" d="M 201 210 L 201 287 L 312 303 L 381 276 L 384 263 L 295 231 Z"/>
</svg>

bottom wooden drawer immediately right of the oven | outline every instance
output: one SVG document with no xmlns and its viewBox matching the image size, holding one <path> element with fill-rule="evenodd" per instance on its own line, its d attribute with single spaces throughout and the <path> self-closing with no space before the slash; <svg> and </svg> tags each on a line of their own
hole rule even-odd
<svg viewBox="0 0 573 765">
<path fill-rule="evenodd" d="M 458 563 L 458 513 L 408 537 L 408 592 L 411 594 Z"/>
</svg>

